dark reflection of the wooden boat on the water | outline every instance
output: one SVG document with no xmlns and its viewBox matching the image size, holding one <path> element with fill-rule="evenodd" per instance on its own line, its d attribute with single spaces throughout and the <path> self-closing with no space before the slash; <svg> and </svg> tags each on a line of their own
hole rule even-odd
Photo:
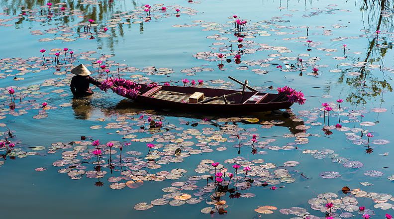
<svg viewBox="0 0 394 219">
<path fill-rule="evenodd" d="M 104 102 L 107 104 L 107 102 Z M 146 105 L 138 103 L 138 102 L 133 102 L 128 99 L 124 99 L 120 101 L 119 103 L 116 104 L 114 107 L 110 106 L 103 106 L 102 110 L 106 116 L 110 116 L 112 114 L 125 114 L 125 113 L 141 113 L 149 109 L 147 108 Z M 160 110 L 156 109 L 155 111 L 150 111 L 148 110 L 149 113 L 152 114 L 157 114 L 157 115 L 162 115 L 162 116 L 173 116 L 173 117 L 185 117 L 185 118 L 191 118 L 191 119 L 209 119 L 209 120 L 217 120 L 222 118 L 231 118 L 229 121 L 226 121 L 224 123 L 238 123 L 238 124 L 260 124 L 260 125 L 275 125 L 275 126 L 281 126 L 281 127 L 289 127 L 289 130 L 291 133 L 296 134 L 298 132 L 303 132 L 302 130 L 296 129 L 297 125 L 302 125 L 303 121 L 293 121 L 293 118 L 295 117 L 293 112 L 290 110 L 282 111 L 282 110 L 273 110 L 269 112 L 254 112 L 254 113 L 248 113 L 248 117 L 253 117 L 257 118 L 259 121 L 258 122 L 251 122 L 250 120 L 245 120 L 242 119 L 241 117 L 237 117 L 238 119 L 232 117 L 234 116 L 234 113 L 224 113 L 217 111 L 215 112 L 210 112 L 210 113 L 205 113 L 205 112 L 195 112 L 195 113 L 189 113 L 189 112 L 180 112 L 180 111 L 165 111 L 165 110 Z M 237 113 L 238 116 L 239 113 Z M 190 121 L 190 124 L 196 124 L 195 122 L 197 121 Z M 212 125 L 218 125 L 219 123 L 214 123 L 212 122 Z M 223 124 L 220 122 L 220 124 Z M 218 125 L 220 126 L 220 125 Z"/>
</svg>

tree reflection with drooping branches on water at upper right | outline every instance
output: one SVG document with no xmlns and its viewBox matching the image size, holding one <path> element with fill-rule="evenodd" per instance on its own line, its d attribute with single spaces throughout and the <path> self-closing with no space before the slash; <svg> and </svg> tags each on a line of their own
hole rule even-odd
<svg viewBox="0 0 394 219">
<path fill-rule="evenodd" d="M 356 0 L 357 2 L 357 0 Z M 372 39 L 369 39 L 369 45 L 366 51 L 366 57 L 363 61 L 364 66 L 359 68 L 349 68 L 342 71 L 341 76 L 338 78 L 338 83 L 346 82 L 347 85 L 354 87 L 355 89 L 350 92 L 346 98 L 347 102 L 351 104 L 367 104 L 371 98 L 376 98 L 381 95 L 381 102 L 383 100 L 384 92 L 393 92 L 392 86 L 388 83 L 386 75 L 382 68 L 385 67 L 384 57 L 388 53 L 389 49 L 393 48 L 393 43 L 388 42 L 388 39 L 384 37 L 384 34 L 379 35 L 382 37 L 381 44 L 378 44 L 379 40 L 376 37 L 378 30 L 384 29 L 386 31 L 393 30 L 393 20 L 391 16 L 385 16 L 385 11 L 390 10 L 393 7 L 393 1 L 388 0 L 362 0 L 360 10 L 363 12 L 363 22 L 366 27 L 367 34 L 372 35 Z M 382 28 L 383 27 L 383 28 Z M 371 68 L 367 66 L 373 63 L 379 63 L 379 70 L 382 71 L 383 78 L 379 78 L 372 74 Z M 359 72 L 359 76 L 351 76 L 345 78 L 345 74 L 348 72 Z"/>
</svg>

